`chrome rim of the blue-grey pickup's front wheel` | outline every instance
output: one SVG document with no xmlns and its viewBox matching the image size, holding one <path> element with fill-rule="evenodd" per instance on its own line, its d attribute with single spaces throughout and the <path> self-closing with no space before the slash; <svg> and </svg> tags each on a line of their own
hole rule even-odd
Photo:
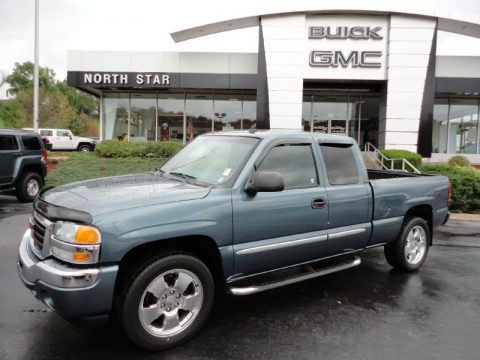
<svg viewBox="0 0 480 360">
<path fill-rule="evenodd" d="M 142 327 L 156 337 L 177 335 L 195 320 L 204 298 L 199 278 L 185 269 L 156 277 L 143 292 L 138 307 Z"/>
</svg>

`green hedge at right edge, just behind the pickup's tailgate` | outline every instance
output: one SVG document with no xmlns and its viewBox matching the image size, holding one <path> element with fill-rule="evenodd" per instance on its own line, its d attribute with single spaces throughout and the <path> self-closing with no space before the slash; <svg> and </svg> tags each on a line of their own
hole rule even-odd
<svg viewBox="0 0 480 360">
<path fill-rule="evenodd" d="M 480 171 L 471 167 L 435 164 L 423 166 L 422 172 L 448 176 L 452 184 L 450 209 L 461 212 L 480 211 Z"/>
</svg>

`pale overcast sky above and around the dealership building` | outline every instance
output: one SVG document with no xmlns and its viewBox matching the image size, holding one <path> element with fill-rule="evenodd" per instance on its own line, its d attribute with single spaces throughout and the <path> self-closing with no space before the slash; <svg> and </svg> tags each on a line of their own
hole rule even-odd
<svg viewBox="0 0 480 360">
<path fill-rule="evenodd" d="M 181 28 L 209 19 L 214 12 L 220 15 L 231 12 L 232 6 L 258 6 L 261 1 L 274 0 L 242 0 L 240 3 L 228 0 L 39 1 L 40 65 L 53 69 L 57 79 L 62 80 L 67 75 L 68 50 L 257 52 L 257 28 L 178 44 L 170 32 L 178 30 L 179 24 Z M 456 0 L 455 3 L 477 1 Z M 15 62 L 33 61 L 34 11 L 35 0 L 0 0 L 0 72 L 8 75 Z M 437 54 L 480 56 L 480 39 L 440 32 Z M 0 88 L 0 98 L 5 98 L 5 93 L 4 86 Z"/>
</svg>

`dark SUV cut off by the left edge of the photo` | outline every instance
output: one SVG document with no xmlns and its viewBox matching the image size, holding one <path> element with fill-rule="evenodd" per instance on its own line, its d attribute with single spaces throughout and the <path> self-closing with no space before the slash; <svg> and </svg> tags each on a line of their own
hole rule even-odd
<svg viewBox="0 0 480 360">
<path fill-rule="evenodd" d="M 33 201 L 46 175 L 47 151 L 39 135 L 0 129 L 0 190 L 15 189 L 18 200 Z"/>
</svg>

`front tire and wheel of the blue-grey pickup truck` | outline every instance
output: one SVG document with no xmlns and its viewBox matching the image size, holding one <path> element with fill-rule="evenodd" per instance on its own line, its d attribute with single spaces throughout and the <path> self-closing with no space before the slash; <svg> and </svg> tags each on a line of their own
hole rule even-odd
<svg viewBox="0 0 480 360">
<path fill-rule="evenodd" d="M 137 271 L 120 295 L 116 320 L 136 345 L 165 350 L 189 340 L 214 298 L 210 271 L 188 255 L 159 258 Z"/>
</svg>

